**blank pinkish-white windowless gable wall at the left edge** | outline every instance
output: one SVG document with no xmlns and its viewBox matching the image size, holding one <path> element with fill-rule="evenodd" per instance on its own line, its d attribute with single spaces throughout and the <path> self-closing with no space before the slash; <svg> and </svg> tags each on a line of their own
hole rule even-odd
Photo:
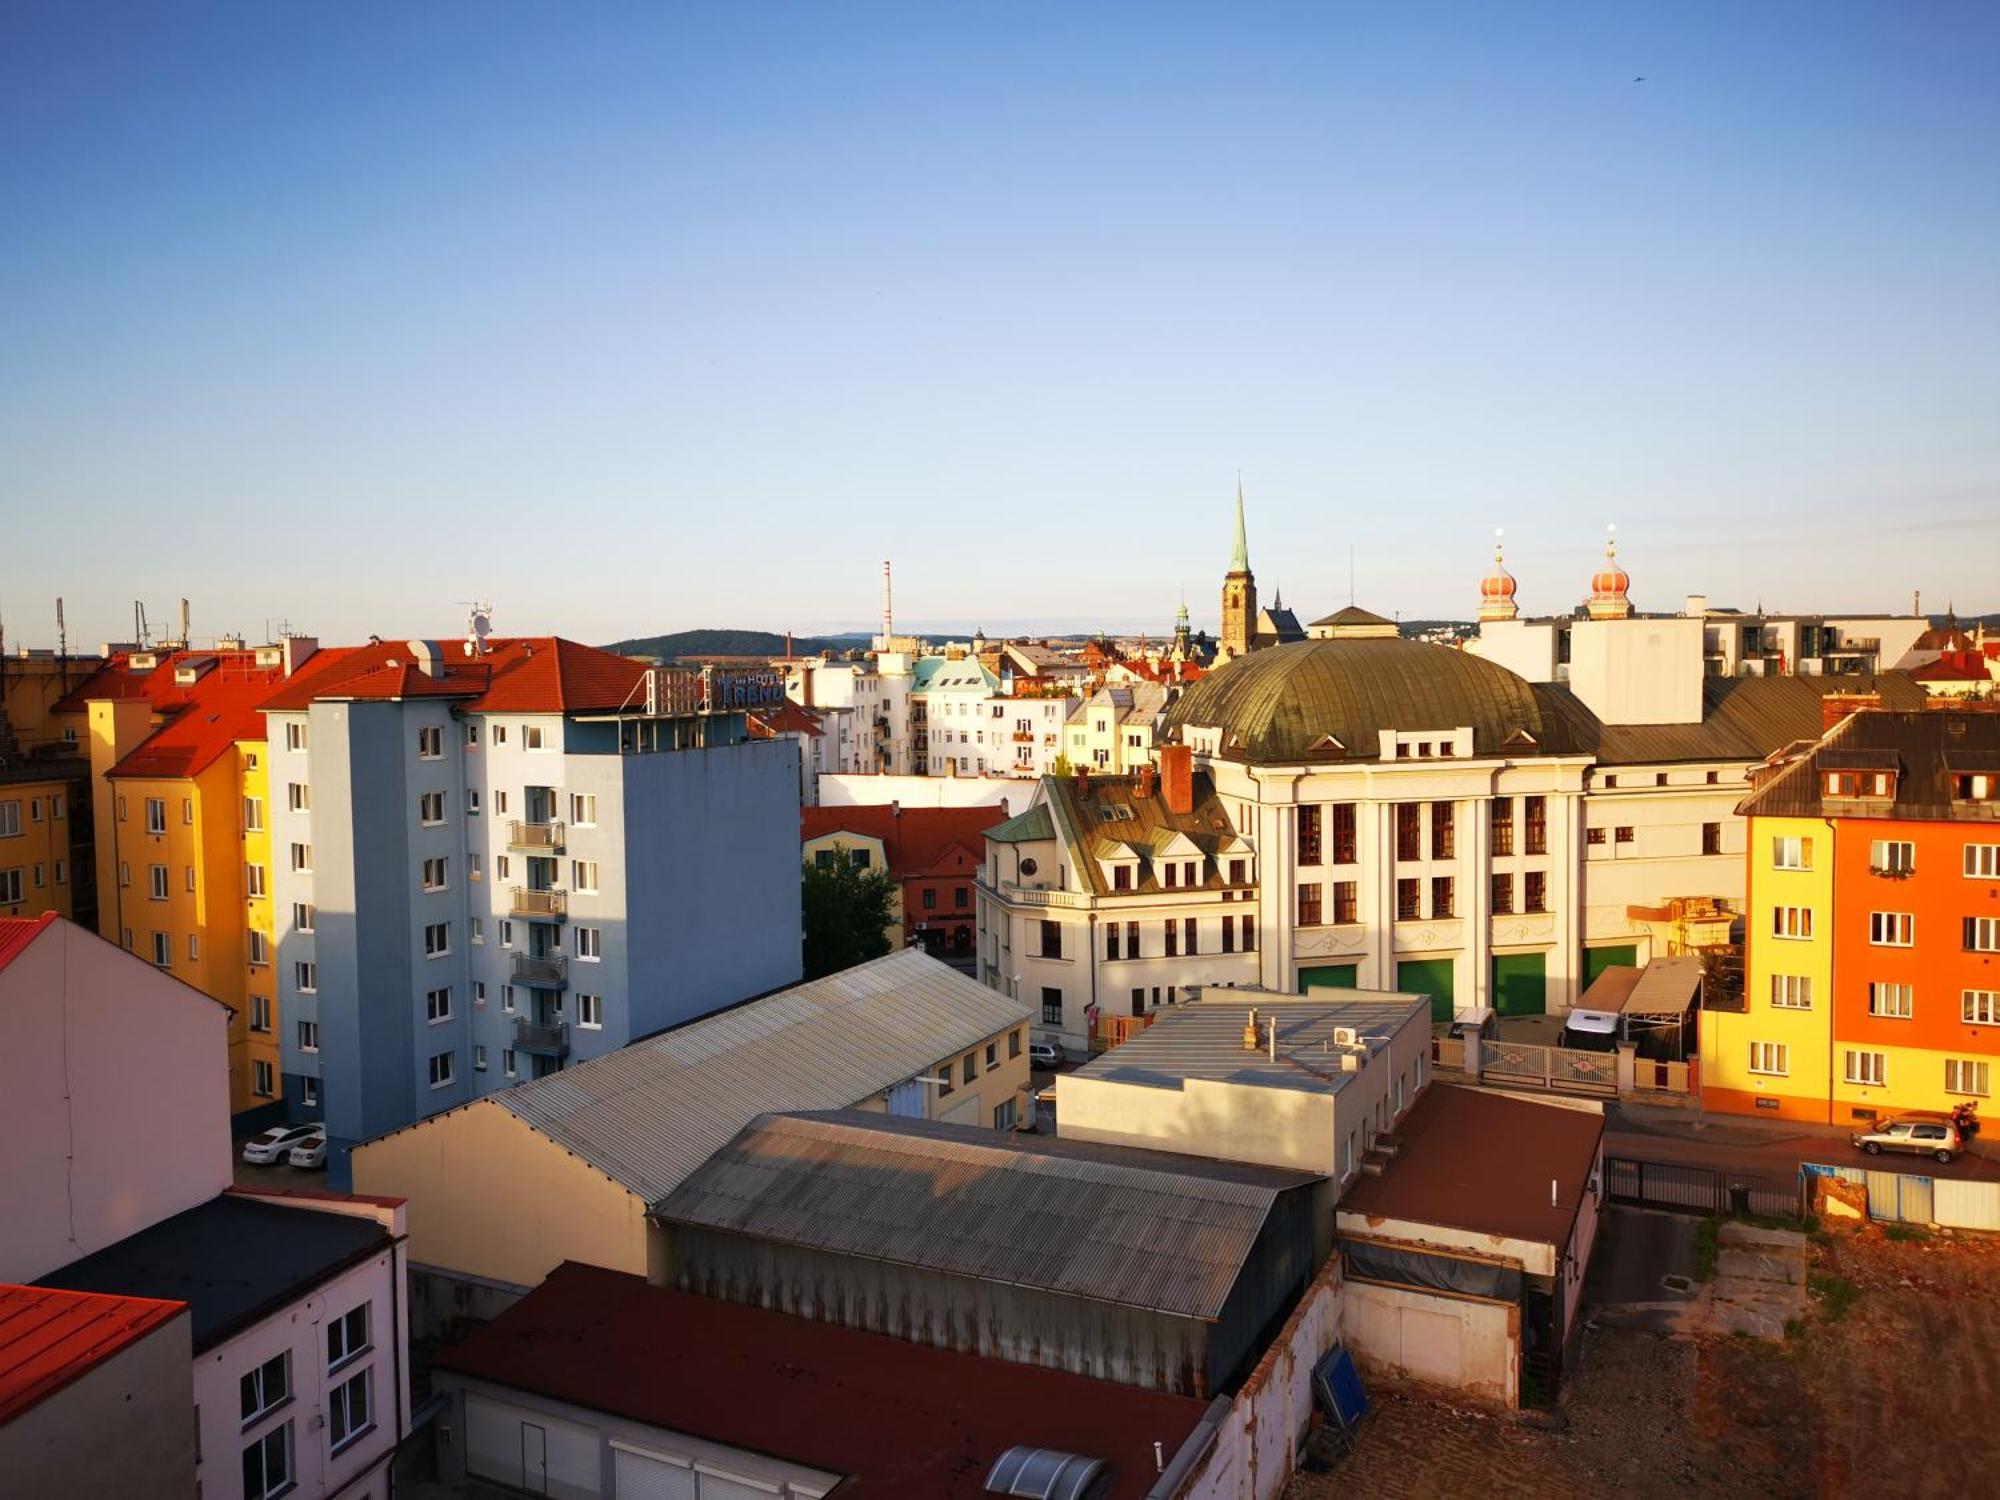
<svg viewBox="0 0 2000 1500">
<path fill-rule="evenodd" d="M 230 1184 L 228 1008 L 58 920 L 0 968 L 0 1280 Z"/>
</svg>

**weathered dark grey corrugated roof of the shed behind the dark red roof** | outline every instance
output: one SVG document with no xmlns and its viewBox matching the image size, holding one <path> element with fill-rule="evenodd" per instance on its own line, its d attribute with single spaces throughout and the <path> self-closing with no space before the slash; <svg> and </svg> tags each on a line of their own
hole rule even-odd
<svg viewBox="0 0 2000 1500">
<path fill-rule="evenodd" d="M 654 1210 L 780 1244 L 1214 1318 L 1320 1178 L 886 1114 L 772 1114 Z"/>
</svg>

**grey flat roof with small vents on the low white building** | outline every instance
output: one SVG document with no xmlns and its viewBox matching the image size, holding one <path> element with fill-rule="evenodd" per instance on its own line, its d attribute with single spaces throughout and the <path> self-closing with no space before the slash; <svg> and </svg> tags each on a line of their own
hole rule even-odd
<svg viewBox="0 0 2000 1500">
<path fill-rule="evenodd" d="M 1156 1012 L 1152 1026 L 1076 1070 L 1076 1078 L 1102 1078 L 1142 1088 L 1180 1088 L 1190 1078 L 1248 1088 L 1286 1088 L 1306 1094 L 1338 1094 L 1358 1074 L 1340 1066 L 1344 1048 L 1334 1046 L 1334 1028 L 1352 1026 L 1380 1052 L 1412 1012 L 1430 1014 L 1428 996 L 1394 990 L 1354 990 L 1346 1000 L 1300 998 L 1266 990 L 1208 988 L 1200 1000 Z M 1368 996 L 1368 998 L 1362 998 Z M 1278 1056 L 1268 1046 L 1244 1046 L 1250 1012 L 1258 1014 L 1258 1034 L 1278 1022 Z M 1060 1084 L 1058 1084 L 1060 1094 Z"/>
</svg>

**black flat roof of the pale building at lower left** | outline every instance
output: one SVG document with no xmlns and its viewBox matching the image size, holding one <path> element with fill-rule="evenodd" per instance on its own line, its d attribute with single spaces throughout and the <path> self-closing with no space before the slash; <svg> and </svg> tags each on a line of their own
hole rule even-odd
<svg viewBox="0 0 2000 1500">
<path fill-rule="evenodd" d="M 36 1286 L 186 1302 L 200 1354 L 388 1246 L 390 1232 L 372 1218 L 224 1192 Z"/>
</svg>

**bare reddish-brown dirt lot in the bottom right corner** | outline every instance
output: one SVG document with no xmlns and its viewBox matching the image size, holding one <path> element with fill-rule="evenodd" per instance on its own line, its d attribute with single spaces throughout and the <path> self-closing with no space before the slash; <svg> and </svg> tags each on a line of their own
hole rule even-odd
<svg viewBox="0 0 2000 1500">
<path fill-rule="evenodd" d="M 1550 1414 L 1378 1382 L 1354 1452 L 1286 1500 L 1992 1494 L 2000 1238 L 1834 1230 L 1812 1278 L 1812 1310 L 1782 1344 L 1586 1330 Z"/>
</svg>

